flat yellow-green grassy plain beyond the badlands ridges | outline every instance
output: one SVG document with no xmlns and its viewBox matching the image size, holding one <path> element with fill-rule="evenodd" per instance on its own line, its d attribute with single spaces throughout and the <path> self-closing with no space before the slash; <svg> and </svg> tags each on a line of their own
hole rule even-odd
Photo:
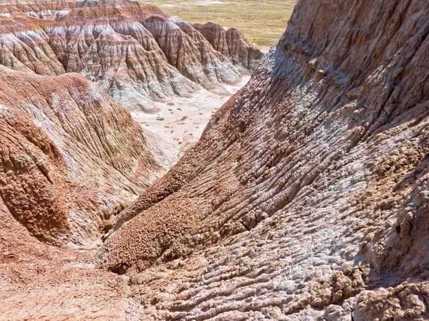
<svg viewBox="0 0 429 321">
<path fill-rule="evenodd" d="M 277 43 L 297 0 L 150 0 L 166 14 L 189 23 L 213 21 L 235 27 L 255 45 Z"/>
</svg>

